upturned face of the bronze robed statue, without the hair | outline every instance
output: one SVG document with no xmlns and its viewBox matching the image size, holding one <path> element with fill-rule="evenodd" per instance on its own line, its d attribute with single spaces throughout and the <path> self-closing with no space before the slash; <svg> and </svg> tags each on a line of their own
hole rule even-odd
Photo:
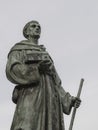
<svg viewBox="0 0 98 130">
<path fill-rule="evenodd" d="M 32 38 L 39 38 L 41 34 L 41 27 L 38 23 L 30 23 L 27 28 L 27 35 Z"/>
</svg>

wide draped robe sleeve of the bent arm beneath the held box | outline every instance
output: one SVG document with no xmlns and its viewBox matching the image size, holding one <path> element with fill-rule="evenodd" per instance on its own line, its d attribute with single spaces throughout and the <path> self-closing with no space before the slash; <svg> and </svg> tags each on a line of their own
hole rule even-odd
<svg viewBox="0 0 98 130">
<path fill-rule="evenodd" d="M 37 65 L 24 63 L 23 51 L 12 51 L 9 53 L 6 65 L 6 75 L 8 80 L 14 84 L 32 84 L 38 82 L 39 73 Z"/>
</svg>

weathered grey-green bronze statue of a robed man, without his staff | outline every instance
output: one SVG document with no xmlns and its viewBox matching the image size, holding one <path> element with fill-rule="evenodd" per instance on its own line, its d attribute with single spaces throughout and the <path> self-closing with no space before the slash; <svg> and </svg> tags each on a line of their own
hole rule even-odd
<svg viewBox="0 0 98 130">
<path fill-rule="evenodd" d="M 11 130 L 64 130 L 63 113 L 78 108 L 80 100 L 65 92 L 53 60 L 38 44 L 41 26 L 27 23 L 27 40 L 15 44 L 8 54 L 6 75 L 16 84 L 12 100 L 16 104 Z"/>
</svg>

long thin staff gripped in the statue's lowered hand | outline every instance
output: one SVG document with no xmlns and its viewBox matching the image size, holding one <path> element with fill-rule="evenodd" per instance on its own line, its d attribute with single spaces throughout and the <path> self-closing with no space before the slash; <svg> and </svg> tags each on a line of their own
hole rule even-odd
<svg viewBox="0 0 98 130">
<path fill-rule="evenodd" d="M 81 94 L 83 82 L 84 82 L 84 79 L 81 79 L 80 85 L 79 85 L 79 90 L 78 90 L 77 97 L 76 97 L 78 99 L 80 98 L 80 94 Z M 74 119 L 75 119 L 75 115 L 76 115 L 76 110 L 77 110 L 77 107 L 75 105 L 74 109 L 73 109 L 72 117 L 71 117 L 71 122 L 70 122 L 69 130 L 72 130 Z"/>
</svg>

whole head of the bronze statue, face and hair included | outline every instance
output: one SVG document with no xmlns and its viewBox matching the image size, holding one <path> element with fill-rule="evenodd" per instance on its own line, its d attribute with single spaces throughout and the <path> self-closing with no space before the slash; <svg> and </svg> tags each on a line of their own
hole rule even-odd
<svg viewBox="0 0 98 130">
<path fill-rule="evenodd" d="M 41 27 L 39 22 L 30 21 L 23 28 L 23 35 L 25 38 L 30 39 L 39 39 L 41 34 Z"/>
</svg>

